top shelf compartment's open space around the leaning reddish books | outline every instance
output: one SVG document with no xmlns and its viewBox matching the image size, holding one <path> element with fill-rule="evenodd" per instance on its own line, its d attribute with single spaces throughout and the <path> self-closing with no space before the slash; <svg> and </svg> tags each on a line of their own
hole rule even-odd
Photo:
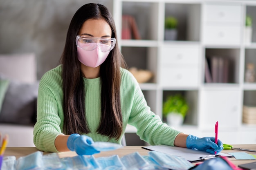
<svg viewBox="0 0 256 170">
<path fill-rule="evenodd" d="M 158 5 L 156 2 L 122 2 L 122 15 L 134 18 L 137 25 L 135 31 L 142 40 L 157 40 Z M 127 31 L 125 27 L 123 20 L 123 33 Z"/>
</svg>

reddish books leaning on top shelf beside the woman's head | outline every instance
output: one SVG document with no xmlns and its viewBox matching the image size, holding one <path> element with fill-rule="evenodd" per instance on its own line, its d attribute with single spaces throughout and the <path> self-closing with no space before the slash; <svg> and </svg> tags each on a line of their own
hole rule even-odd
<svg viewBox="0 0 256 170">
<path fill-rule="evenodd" d="M 131 15 L 122 16 L 122 39 L 141 39 L 135 18 Z"/>
</svg>

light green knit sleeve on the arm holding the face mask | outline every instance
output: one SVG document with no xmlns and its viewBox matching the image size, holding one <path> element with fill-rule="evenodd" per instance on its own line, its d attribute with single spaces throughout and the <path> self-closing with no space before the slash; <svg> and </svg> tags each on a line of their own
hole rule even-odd
<svg viewBox="0 0 256 170">
<path fill-rule="evenodd" d="M 58 99 L 53 90 L 52 76 L 44 75 L 38 89 L 37 122 L 34 126 L 34 144 L 38 150 L 58 152 L 55 139 L 62 134 L 58 115 Z"/>
</svg>

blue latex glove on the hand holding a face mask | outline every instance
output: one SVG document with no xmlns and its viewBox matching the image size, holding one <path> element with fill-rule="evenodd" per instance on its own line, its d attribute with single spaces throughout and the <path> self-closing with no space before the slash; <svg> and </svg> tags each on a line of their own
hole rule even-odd
<svg viewBox="0 0 256 170">
<path fill-rule="evenodd" d="M 100 152 L 91 146 L 93 143 L 92 138 L 74 133 L 67 139 L 67 148 L 76 151 L 77 155 L 93 155 Z"/>
</svg>

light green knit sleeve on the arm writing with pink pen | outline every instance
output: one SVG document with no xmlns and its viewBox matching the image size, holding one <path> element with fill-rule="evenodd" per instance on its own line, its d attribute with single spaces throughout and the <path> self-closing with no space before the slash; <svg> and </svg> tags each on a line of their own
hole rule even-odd
<svg viewBox="0 0 256 170">
<path fill-rule="evenodd" d="M 137 135 L 150 145 L 174 146 L 175 137 L 181 133 L 167 124 L 150 110 L 146 99 L 135 83 L 135 92 L 128 124 L 137 128 Z"/>
</svg>

